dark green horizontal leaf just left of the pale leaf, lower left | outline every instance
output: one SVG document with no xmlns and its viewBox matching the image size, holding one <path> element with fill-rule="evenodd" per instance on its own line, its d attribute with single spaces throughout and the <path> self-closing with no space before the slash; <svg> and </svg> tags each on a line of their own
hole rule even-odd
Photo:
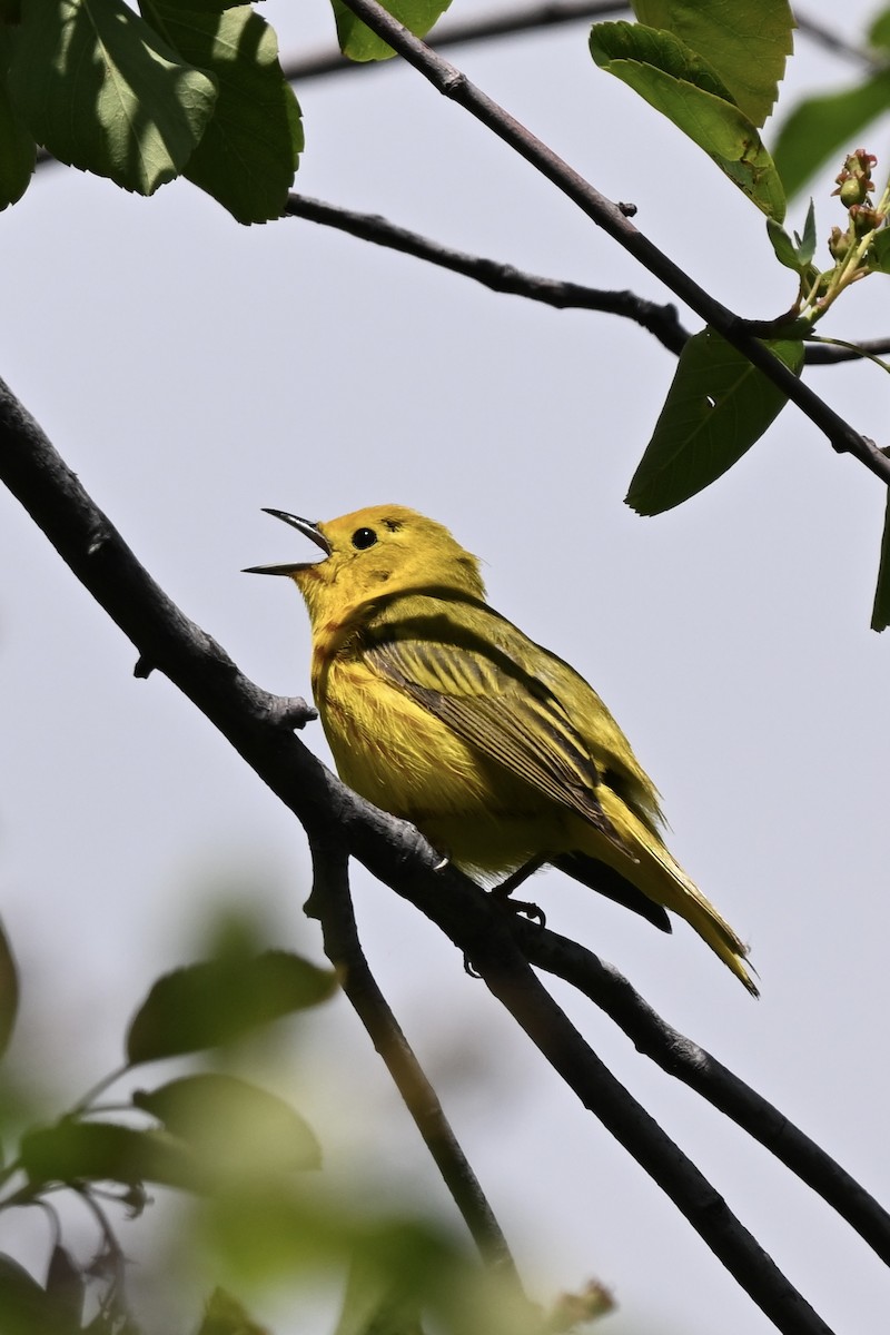
<svg viewBox="0 0 890 1335">
<path fill-rule="evenodd" d="M 204 1176 L 191 1152 L 163 1131 L 137 1131 L 113 1121 L 68 1121 L 29 1131 L 21 1165 L 35 1185 L 116 1181 L 135 1187 L 159 1181 L 200 1189 Z"/>
</svg>

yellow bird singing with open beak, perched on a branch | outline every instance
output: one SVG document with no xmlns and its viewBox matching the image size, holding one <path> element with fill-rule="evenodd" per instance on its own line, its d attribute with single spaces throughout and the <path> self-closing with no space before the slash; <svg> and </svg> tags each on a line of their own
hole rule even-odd
<svg viewBox="0 0 890 1335">
<path fill-rule="evenodd" d="M 658 793 L 583 677 L 484 601 L 479 562 L 404 506 L 326 523 L 290 575 L 340 777 L 486 882 L 551 862 L 670 930 L 673 909 L 749 992 L 747 947 L 674 861 Z"/>
</svg>

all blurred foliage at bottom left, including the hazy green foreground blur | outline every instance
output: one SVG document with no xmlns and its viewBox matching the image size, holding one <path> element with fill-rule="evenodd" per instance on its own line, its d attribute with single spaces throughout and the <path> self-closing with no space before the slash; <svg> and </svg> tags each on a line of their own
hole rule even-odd
<svg viewBox="0 0 890 1335">
<path fill-rule="evenodd" d="M 188 1254 L 203 1252 L 226 1278 L 196 1335 L 268 1335 L 230 1284 L 256 1294 L 332 1270 L 348 1276 L 336 1335 L 423 1335 L 427 1311 L 444 1335 L 546 1335 L 608 1310 L 608 1295 L 594 1286 L 563 1295 L 544 1315 L 471 1263 L 442 1227 L 375 1210 L 359 1187 L 355 1199 L 326 1191 L 320 1141 L 306 1117 L 228 1069 L 189 1071 L 107 1101 L 112 1085 L 151 1063 L 213 1053 L 228 1064 L 234 1045 L 338 992 L 336 972 L 286 951 L 223 951 L 175 969 L 129 1021 L 119 1071 L 61 1116 L 31 1112 L 15 1137 L 5 1128 L 0 1212 L 47 1212 L 53 1240 L 43 1278 L 0 1252 L 4 1335 L 140 1335 L 112 1210 L 140 1216 L 159 1187 L 200 1204 L 188 1224 Z M 17 1000 L 17 971 L 0 930 L 7 1041 Z M 63 1193 L 79 1197 L 95 1220 L 97 1246 L 87 1260 L 63 1238 Z"/>
</svg>

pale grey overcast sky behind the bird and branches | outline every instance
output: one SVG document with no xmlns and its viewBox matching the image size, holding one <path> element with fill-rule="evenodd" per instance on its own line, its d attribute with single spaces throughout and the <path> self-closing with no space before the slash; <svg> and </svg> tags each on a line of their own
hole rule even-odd
<svg viewBox="0 0 890 1335">
<path fill-rule="evenodd" d="M 288 55 L 331 39 L 323 0 L 264 12 Z M 845 7 L 845 21 L 854 12 L 869 7 Z M 634 200 L 639 227 L 727 304 L 759 318 L 790 304 L 793 276 L 773 262 L 761 215 L 592 67 L 583 23 L 450 57 L 602 192 Z M 785 105 L 858 76 L 799 37 Z M 298 93 L 306 194 L 522 268 L 667 298 L 411 69 Z M 886 124 L 865 147 L 883 176 Z M 841 222 L 827 198 L 837 170 L 814 186 L 821 238 Z M 793 226 L 803 211 L 797 202 Z M 750 940 L 762 999 L 685 924 L 666 937 L 558 873 L 535 882 L 550 925 L 618 965 L 890 1200 L 890 639 L 869 630 L 877 481 L 789 409 L 721 483 L 639 519 L 622 498 L 674 370 L 648 335 L 495 296 L 308 223 L 243 228 L 184 182 L 143 200 L 44 170 L 0 218 L 0 374 L 148 570 L 260 685 L 310 689 L 295 590 L 239 573 L 308 546 L 262 506 L 331 518 L 395 501 L 484 559 L 492 605 L 572 662 L 627 730 L 662 790 L 674 852 Z M 827 332 L 887 334 L 882 284 L 854 290 Z M 810 383 L 886 443 L 879 371 L 814 371 Z M 19 506 L 0 506 L 0 880 L 25 976 L 16 1052 L 39 1061 L 61 1108 L 117 1063 L 131 1009 L 200 949 L 236 892 L 275 940 L 322 956 L 300 912 L 300 828 L 160 674 L 132 677 L 132 646 Z M 327 757 L 320 728 L 306 736 Z M 372 968 L 530 1287 L 547 1296 L 596 1276 L 620 1303 L 615 1335 L 770 1331 L 456 952 L 360 869 L 354 884 Z M 866 1246 L 556 991 L 829 1324 L 882 1330 L 890 1286 Z M 371 1156 L 375 1176 L 451 1218 L 346 1003 L 308 1028 L 278 1087 L 312 1107 L 332 1171 Z M 356 1107 L 371 1116 L 356 1124 Z M 15 1250 L 21 1220 L 9 1230 L 0 1220 Z"/>
</svg>

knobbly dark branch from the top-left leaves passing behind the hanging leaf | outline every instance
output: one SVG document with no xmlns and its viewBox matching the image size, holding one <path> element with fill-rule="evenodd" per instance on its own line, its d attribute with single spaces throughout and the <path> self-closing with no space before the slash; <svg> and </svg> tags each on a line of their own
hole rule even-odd
<svg viewBox="0 0 890 1335">
<path fill-rule="evenodd" d="M 296 194 L 288 195 L 284 212 L 288 218 L 304 218 L 310 223 L 334 227 L 336 231 L 348 232 L 350 236 L 372 242 L 375 246 L 386 246 L 403 255 L 414 255 L 415 259 L 471 278 L 492 292 L 524 296 L 532 302 L 542 302 L 544 306 L 554 306 L 560 311 L 602 311 L 606 315 L 620 315 L 648 330 L 675 356 L 683 351 L 690 336 L 689 330 L 681 324 L 677 307 L 673 303 L 659 306 L 656 302 L 638 296 L 636 292 L 615 292 L 600 287 L 587 287 L 583 283 L 544 278 L 540 274 L 527 274 L 514 268 L 512 264 L 486 259 L 483 255 L 451 250 L 430 236 L 422 236 L 420 232 L 398 227 L 382 218 L 380 214 L 360 214 L 352 208 L 342 208 L 339 204 L 328 204 L 323 199 Z M 806 350 L 807 364 L 834 366 L 838 362 L 857 360 L 857 347 L 874 356 L 881 356 L 890 352 L 890 339 L 871 339 L 857 343 L 855 347 L 813 343 Z"/>
</svg>

